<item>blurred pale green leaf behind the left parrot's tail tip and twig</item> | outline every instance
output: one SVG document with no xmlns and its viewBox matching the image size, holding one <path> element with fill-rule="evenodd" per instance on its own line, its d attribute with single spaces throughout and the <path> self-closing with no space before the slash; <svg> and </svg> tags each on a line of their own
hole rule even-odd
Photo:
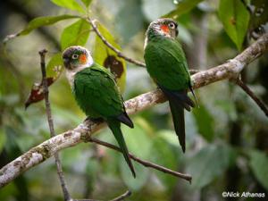
<svg viewBox="0 0 268 201">
<path fill-rule="evenodd" d="M 122 127 L 126 144 L 130 153 L 147 160 L 152 154 L 151 140 L 147 135 L 147 121 L 144 121 L 141 118 L 135 118 L 134 123 L 134 129 L 130 129 L 126 126 Z M 120 158 L 121 177 L 131 190 L 137 191 L 146 184 L 149 171 L 146 167 L 134 162 L 133 160 L 132 162 L 137 173 L 137 177 L 135 179 L 132 177 L 129 166 L 122 156 Z"/>
</svg>

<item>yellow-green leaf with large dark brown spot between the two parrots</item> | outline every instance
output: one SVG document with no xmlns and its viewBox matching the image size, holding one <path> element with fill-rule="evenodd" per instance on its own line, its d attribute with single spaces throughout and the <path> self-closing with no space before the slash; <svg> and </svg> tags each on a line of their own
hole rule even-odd
<svg viewBox="0 0 268 201">
<path fill-rule="evenodd" d="M 114 47 L 121 50 L 121 47 L 115 42 L 113 35 L 105 29 L 105 27 L 97 22 L 97 29 L 105 37 L 105 39 Z M 116 82 L 121 89 L 121 93 L 124 91 L 126 85 L 126 62 L 117 56 L 110 48 L 108 48 L 104 42 L 96 36 L 95 45 L 93 49 L 93 58 L 96 63 L 99 63 L 112 71 L 116 78 Z"/>
</svg>

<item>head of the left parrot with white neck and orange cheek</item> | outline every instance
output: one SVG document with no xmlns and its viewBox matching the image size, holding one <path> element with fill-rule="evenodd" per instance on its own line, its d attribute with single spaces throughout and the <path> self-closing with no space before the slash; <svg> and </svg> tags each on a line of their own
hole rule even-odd
<svg viewBox="0 0 268 201">
<path fill-rule="evenodd" d="M 93 58 L 85 47 L 70 46 L 63 51 L 63 64 L 67 71 L 77 71 L 90 67 Z"/>
</svg>

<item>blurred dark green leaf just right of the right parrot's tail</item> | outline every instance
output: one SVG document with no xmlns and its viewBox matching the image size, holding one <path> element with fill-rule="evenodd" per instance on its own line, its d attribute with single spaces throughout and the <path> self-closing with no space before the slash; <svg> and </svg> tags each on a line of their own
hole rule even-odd
<svg viewBox="0 0 268 201">
<path fill-rule="evenodd" d="M 197 110 L 193 111 L 196 121 L 198 132 L 209 142 L 214 139 L 214 118 L 205 108 L 204 105 L 200 105 Z"/>
</svg>

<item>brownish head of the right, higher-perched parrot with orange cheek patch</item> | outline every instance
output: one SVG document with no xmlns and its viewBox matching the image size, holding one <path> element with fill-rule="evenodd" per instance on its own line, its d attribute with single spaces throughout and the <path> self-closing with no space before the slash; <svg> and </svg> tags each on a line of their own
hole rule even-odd
<svg viewBox="0 0 268 201">
<path fill-rule="evenodd" d="M 178 24 L 170 18 L 158 19 L 150 23 L 147 29 L 147 37 L 150 35 L 162 35 L 167 38 L 176 38 L 178 36 Z"/>
</svg>

